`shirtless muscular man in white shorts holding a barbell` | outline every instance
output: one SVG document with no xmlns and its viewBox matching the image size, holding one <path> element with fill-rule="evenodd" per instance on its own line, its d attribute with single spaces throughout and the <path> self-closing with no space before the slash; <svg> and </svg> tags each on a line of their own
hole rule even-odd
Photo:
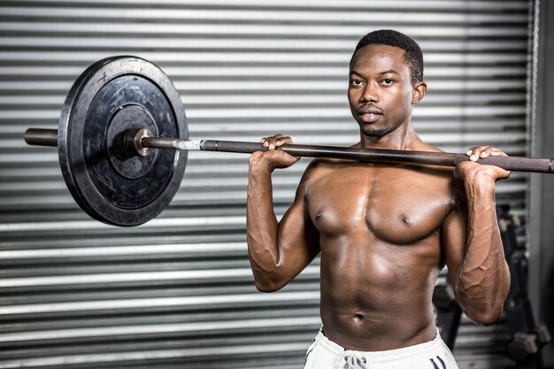
<svg viewBox="0 0 554 369">
<path fill-rule="evenodd" d="M 423 98 L 417 43 L 396 31 L 365 35 L 350 61 L 348 99 L 358 147 L 439 151 L 411 124 Z M 456 368 L 435 327 L 431 296 L 446 264 L 458 304 L 474 322 L 502 314 L 510 275 L 496 222 L 495 181 L 509 173 L 474 163 L 505 155 L 468 150 L 455 169 L 315 159 L 281 221 L 271 173 L 296 163 L 262 142 L 250 157 L 247 232 L 256 287 L 274 291 L 321 254 L 323 328 L 306 368 Z"/>
</svg>

